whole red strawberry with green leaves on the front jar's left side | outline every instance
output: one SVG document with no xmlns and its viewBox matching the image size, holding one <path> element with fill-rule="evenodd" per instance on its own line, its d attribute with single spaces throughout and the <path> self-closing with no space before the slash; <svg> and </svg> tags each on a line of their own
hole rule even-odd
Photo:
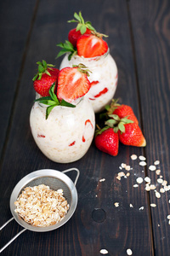
<svg viewBox="0 0 170 256">
<path fill-rule="evenodd" d="M 40 62 L 37 61 L 38 64 L 38 73 L 32 79 L 34 89 L 41 96 L 49 96 L 49 89 L 52 84 L 54 84 L 59 75 L 59 69 L 54 68 L 54 65 L 47 64 L 46 61 Z"/>
</svg>

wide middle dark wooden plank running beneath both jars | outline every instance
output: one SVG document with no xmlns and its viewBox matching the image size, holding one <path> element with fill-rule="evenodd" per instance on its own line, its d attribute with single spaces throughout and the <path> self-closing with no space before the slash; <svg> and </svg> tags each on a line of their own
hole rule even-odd
<svg viewBox="0 0 170 256">
<path fill-rule="evenodd" d="M 44 157 L 31 137 L 29 114 L 35 96 L 31 81 L 35 63 L 42 59 L 48 63 L 55 62 L 58 52 L 55 44 L 64 42 L 71 28 L 66 20 L 71 20 L 74 11 L 79 10 L 82 10 L 86 20 L 92 21 L 99 32 L 110 35 L 108 44 L 119 69 L 116 97 L 131 105 L 140 118 L 127 4 L 111 0 L 88 0 L 86 3 L 69 1 L 69 4 L 69 9 L 65 9 L 68 5 L 66 0 L 51 1 L 50 4 L 42 1 L 39 5 L 2 165 L 0 219 L 3 224 L 11 217 L 8 200 L 14 185 L 21 177 L 42 168 L 63 171 L 75 166 L 80 169 L 77 210 L 71 220 L 59 230 L 44 234 L 26 231 L 6 252 L 8 255 L 34 253 L 85 256 L 98 255 L 100 249 L 105 248 L 108 255 L 116 256 L 126 255 L 127 248 L 131 248 L 133 254 L 149 256 L 152 255 L 152 234 L 147 195 L 143 183 L 139 188 L 133 188 L 136 177 L 144 177 L 144 172 L 139 166 L 139 160 L 130 159 L 131 154 L 139 156 L 144 153 L 143 150 L 120 145 L 119 154 L 114 158 L 99 152 L 93 143 L 81 160 L 62 165 Z M 59 66 L 59 61 L 61 59 L 55 62 L 56 66 Z M 123 177 L 118 181 L 116 175 L 121 171 L 119 167 L 122 163 L 130 165 L 133 170 L 130 177 Z M 103 178 L 105 181 L 100 181 Z M 115 207 L 115 202 L 119 203 L 119 207 Z M 3 230 L 1 247 L 19 229 L 17 224 L 10 224 Z"/>
</svg>

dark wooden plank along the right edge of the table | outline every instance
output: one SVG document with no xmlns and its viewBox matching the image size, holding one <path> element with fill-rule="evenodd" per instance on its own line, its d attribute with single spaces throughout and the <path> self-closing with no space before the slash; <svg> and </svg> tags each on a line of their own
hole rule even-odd
<svg viewBox="0 0 170 256">
<path fill-rule="evenodd" d="M 133 25 L 144 134 L 148 141 L 145 148 L 147 172 L 151 182 L 156 184 L 156 191 L 160 192 L 163 187 L 157 182 L 160 176 L 156 175 L 156 172 L 150 172 L 148 167 L 153 165 L 155 160 L 159 160 L 157 169 L 161 170 L 162 179 L 167 181 L 167 185 L 170 183 L 170 2 L 132 0 L 129 2 L 129 9 Z M 150 203 L 156 204 L 156 208 L 151 208 L 155 254 L 169 255 L 169 191 L 161 193 L 161 198 L 156 198 L 154 191 L 149 195 Z"/>
</svg>

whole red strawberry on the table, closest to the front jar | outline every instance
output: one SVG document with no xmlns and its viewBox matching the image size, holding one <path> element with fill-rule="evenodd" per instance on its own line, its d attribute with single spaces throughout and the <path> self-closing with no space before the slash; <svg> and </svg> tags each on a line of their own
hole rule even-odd
<svg viewBox="0 0 170 256">
<path fill-rule="evenodd" d="M 94 143 L 99 150 L 116 156 L 119 148 L 118 133 L 113 131 L 113 128 L 105 127 L 100 131 L 96 131 Z"/>
</svg>

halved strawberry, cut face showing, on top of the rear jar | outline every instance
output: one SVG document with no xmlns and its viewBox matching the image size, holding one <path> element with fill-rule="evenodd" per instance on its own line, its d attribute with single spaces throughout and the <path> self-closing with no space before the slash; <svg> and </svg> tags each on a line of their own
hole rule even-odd
<svg viewBox="0 0 170 256">
<path fill-rule="evenodd" d="M 99 33 L 84 34 L 77 40 L 77 54 L 85 58 L 93 58 L 104 55 L 108 50 L 108 44 L 99 36 Z"/>
</svg>

